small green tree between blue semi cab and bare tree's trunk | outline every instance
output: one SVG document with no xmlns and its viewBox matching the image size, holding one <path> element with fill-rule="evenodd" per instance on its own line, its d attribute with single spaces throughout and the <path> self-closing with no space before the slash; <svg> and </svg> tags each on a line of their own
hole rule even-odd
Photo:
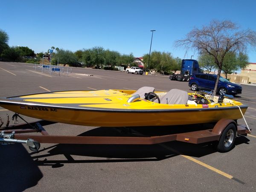
<svg viewBox="0 0 256 192">
<path fill-rule="evenodd" d="M 207 71 L 207 73 L 210 73 L 212 70 L 215 70 L 217 68 L 214 62 L 214 57 L 207 53 L 202 53 L 199 56 L 198 63 L 201 68 Z"/>
</svg>

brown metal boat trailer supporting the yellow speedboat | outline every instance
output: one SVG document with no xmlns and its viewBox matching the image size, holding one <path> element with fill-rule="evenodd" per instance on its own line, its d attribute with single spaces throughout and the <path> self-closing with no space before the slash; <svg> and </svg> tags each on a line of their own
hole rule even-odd
<svg viewBox="0 0 256 192">
<path fill-rule="evenodd" d="M 12 116 L 14 123 L 18 123 L 17 117 L 20 117 L 25 121 L 19 114 L 15 113 Z M 236 135 L 247 136 L 251 131 L 251 129 L 247 128 L 245 125 L 237 125 L 236 122 L 231 119 L 221 119 L 210 129 L 150 137 L 145 135 L 141 135 L 141 137 L 49 135 L 43 126 L 54 123 L 56 122 L 41 120 L 9 126 L 8 116 L 6 127 L 0 128 L 0 144 L 26 143 L 30 150 L 38 151 L 40 143 L 152 145 L 170 141 L 181 141 L 194 144 L 217 141 L 218 151 L 227 152 L 233 147 Z M 0 127 L 2 125 L 3 122 L 0 118 Z M 31 133 L 41 133 L 41 135 Z"/>
</svg>

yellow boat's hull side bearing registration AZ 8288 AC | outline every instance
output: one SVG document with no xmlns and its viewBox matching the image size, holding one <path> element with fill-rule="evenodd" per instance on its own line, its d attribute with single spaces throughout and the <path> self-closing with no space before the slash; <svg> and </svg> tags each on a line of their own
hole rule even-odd
<svg viewBox="0 0 256 192">
<path fill-rule="evenodd" d="M 49 105 L 25 105 L 9 103 L 1 105 L 10 111 L 44 119 L 74 125 L 87 126 L 160 126 L 187 125 L 207 122 L 217 122 L 220 119 L 240 119 L 242 115 L 237 107 L 201 108 L 201 109 L 167 109 L 167 110 L 102 110 L 58 108 Z M 247 106 L 242 105 L 245 113 Z"/>
</svg>

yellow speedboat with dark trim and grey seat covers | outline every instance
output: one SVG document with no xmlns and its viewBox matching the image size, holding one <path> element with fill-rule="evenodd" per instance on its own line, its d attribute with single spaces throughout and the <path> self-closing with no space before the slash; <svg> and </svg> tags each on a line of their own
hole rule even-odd
<svg viewBox="0 0 256 192">
<path fill-rule="evenodd" d="M 228 98 L 177 89 L 155 92 L 154 87 L 37 93 L 0 99 L 0 106 L 37 119 L 105 127 L 217 122 L 240 119 L 247 110 Z"/>
</svg>

